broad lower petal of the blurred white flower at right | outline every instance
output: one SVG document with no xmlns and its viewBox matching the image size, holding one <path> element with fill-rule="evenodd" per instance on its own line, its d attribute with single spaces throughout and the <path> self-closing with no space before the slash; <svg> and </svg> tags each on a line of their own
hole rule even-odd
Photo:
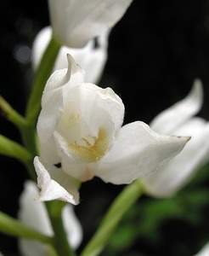
<svg viewBox="0 0 209 256">
<path fill-rule="evenodd" d="M 157 172 L 142 177 L 150 195 L 167 197 L 176 193 L 209 159 L 209 124 L 201 119 L 190 120 L 182 131 L 188 130 L 191 139 L 180 154 L 161 166 Z M 181 134 L 181 133 L 179 133 Z"/>
</svg>

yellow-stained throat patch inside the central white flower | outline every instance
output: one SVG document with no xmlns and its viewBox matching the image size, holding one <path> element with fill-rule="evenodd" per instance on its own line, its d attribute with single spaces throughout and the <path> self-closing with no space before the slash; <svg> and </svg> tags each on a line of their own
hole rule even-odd
<svg viewBox="0 0 209 256">
<path fill-rule="evenodd" d="M 76 154 L 76 157 L 85 162 L 96 162 L 100 160 L 108 149 L 107 132 L 100 128 L 98 136 L 89 135 L 82 138 L 79 143 L 69 143 L 69 148 Z"/>
</svg>

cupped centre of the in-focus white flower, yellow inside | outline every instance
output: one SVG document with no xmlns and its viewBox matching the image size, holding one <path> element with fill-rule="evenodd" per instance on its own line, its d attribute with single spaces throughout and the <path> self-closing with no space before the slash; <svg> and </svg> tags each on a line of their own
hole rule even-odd
<svg viewBox="0 0 209 256">
<path fill-rule="evenodd" d="M 54 140 L 64 171 L 85 181 L 94 174 L 88 163 L 106 154 L 121 127 L 124 106 L 113 90 L 94 84 L 76 86 L 67 101 Z"/>
</svg>

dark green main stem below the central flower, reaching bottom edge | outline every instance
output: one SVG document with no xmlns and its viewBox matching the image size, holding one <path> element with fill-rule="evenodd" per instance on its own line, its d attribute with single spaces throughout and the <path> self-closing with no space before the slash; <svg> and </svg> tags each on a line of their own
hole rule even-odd
<svg viewBox="0 0 209 256">
<path fill-rule="evenodd" d="M 75 256 L 67 240 L 65 226 L 62 219 L 63 201 L 48 201 L 46 203 L 48 215 L 54 230 L 54 249 L 59 256 Z"/>
</svg>

